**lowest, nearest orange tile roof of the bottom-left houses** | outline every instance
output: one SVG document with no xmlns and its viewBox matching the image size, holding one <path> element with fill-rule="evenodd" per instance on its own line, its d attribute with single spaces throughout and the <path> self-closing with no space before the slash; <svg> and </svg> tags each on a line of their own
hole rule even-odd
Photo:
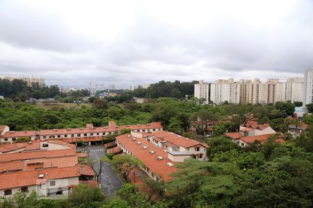
<svg viewBox="0 0 313 208">
<path fill-rule="evenodd" d="M 41 174 L 44 175 L 43 178 L 38 177 Z M 40 183 L 46 183 L 47 180 L 54 180 L 66 177 L 79 177 L 79 175 L 79 166 L 65 168 L 47 168 L 36 171 L 22 171 L 15 173 L 3 173 L 0 174 L 0 190 L 13 189 L 17 187 L 29 187 Z"/>
</svg>

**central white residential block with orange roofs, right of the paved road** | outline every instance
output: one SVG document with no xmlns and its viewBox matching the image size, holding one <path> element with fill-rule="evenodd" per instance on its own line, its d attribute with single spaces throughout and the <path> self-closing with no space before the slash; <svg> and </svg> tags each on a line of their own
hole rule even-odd
<svg viewBox="0 0 313 208">
<path fill-rule="evenodd" d="M 174 165 L 185 159 L 207 158 L 206 144 L 166 131 L 131 132 L 116 137 L 116 143 L 124 153 L 140 159 L 143 171 L 154 180 L 172 180 L 170 173 L 177 170 Z"/>
</svg>

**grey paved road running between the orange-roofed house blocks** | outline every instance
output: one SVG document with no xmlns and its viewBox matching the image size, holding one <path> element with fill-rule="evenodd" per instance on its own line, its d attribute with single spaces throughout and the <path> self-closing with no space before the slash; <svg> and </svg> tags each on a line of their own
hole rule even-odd
<svg viewBox="0 0 313 208">
<path fill-rule="evenodd" d="M 85 148 L 77 148 L 77 150 L 86 150 Z M 100 158 L 105 157 L 105 149 L 103 146 L 88 146 L 89 157 L 94 161 L 99 161 Z M 94 165 L 95 171 L 99 171 L 99 162 Z M 102 165 L 102 174 L 100 179 L 101 188 L 108 196 L 115 195 L 116 191 L 122 187 L 122 182 L 118 176 L 112 171 L 108 162 Z"/>
</svg>

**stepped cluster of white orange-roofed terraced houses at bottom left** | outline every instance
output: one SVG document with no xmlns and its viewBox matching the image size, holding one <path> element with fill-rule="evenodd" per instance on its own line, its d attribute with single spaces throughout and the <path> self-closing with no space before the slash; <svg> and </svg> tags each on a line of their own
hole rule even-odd
<svg viewBox="0 0 313 208">
<path fill-rule="evenodd" d="M 63 141 L 6 144 L 0 150 L 0 197 L 20 191 L 67 196 L 81 180 L 88 184 L 95 178 L 93 168 L 78 164 L 76 147 Z"/>
</svg>

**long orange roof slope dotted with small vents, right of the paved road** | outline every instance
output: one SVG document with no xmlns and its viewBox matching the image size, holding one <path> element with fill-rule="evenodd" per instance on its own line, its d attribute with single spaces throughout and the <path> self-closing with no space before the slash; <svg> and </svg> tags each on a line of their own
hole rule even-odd
<svg viewBox="0 0 313 208">
<path fill-rule="evenodd" d="M 120 135 L 116 137 L 116 141 L 125 146 L 127 150 L 129 150 L 137 159 L 140 159 L 141 162 L 152 171 L 152 173 L 161 177 L 162 180 L 172 180 L 170 173 L 176 171 L 177 168 L 175 168 L 175 166 L 169 167 L 167 165 L 168 162 L 172 164 L 175 164 L 175 162 L 168 159 L 168 153 L 166 153 L 165 149 L 157 148 L 143 138 L 136 137 L 136 141 L 133 141 L 131 138 L 134 137 L 129 137 L 129 134 Z M 141 142 L 141 144 L 137 144 L 138 141 Z M 144 149 L 143 145 L 148 146 L 148 148 Z M 153 150 L 154 154 L 150 154 L 150 150 Z M 161 156 L 163 159 L 159 160 L 157 159 L 157 156 Z"/>
</svg>

